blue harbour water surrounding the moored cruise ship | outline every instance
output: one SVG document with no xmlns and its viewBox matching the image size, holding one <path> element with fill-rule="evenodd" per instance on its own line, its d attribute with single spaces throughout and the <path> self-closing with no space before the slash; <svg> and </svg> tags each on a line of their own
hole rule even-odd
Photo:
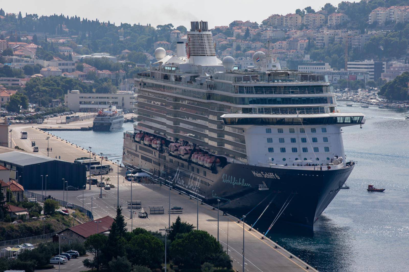
<svg viewBox="0 0 409 272">
<path fill-rule="evenodd" d="M 319 271 L 406 272 L 409 270 L 409 120 L 405 116 L 409 113 L 361 108 L 355 103 L 346 107 L 343 101 L 339 101 L 338 109 L 362 112 L 366 116 L 362 129 L 357 125 L 343 128 L 346 159 L 357 162 L 346 182 L 351 189 L 337 194 L 315 223 L 313 233 L 273 229 L 269 234 Z M 115 132 L 53 134 L 120 160 L 123 132 L 132 129 L 132 123 L 124 123 L 123 129 Z M 368 184 L 386 190 L 367 192 Z"/>
</svg>

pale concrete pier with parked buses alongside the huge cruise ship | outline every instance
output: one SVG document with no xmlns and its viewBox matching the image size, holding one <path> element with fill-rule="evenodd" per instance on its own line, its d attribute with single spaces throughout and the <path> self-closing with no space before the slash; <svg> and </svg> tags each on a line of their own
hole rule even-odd
<svg viewBox="0 0 409 272">
<path fill-rule="evenodd" d="M 92 120 L 75 122 L 70 125 L 56 124 L 56 126 L 67 126 L 67 127 L 85 127 Z M 66 143 L 65 140 L 57 138 L 52 135 L 52 132 L 45 132 L 38 127 L 43 127 L 43 125 L 12 125 L 10 129 L 13 129 L 13 147 L 18 145 L 20 148 L 32 151 L 31 140 L 36 141 L 36 145 L 39 146 L 41 155 L 47 156 L 47 151 L 44 147 L 47 147 L 46 137 L 49 138 L 49 145 L 52 146 L 52 152 L 49 156 L 61 156 L 62 160 L 74 161 L 78 157 L 88 157 L 89 153 L 86 150 L 88 147 L 79 147 L 75 143 Z M 28 132 L 28 139 L 20 139 L 20 131 L 24 130 Z M 99 156 L 97 156 L 97 159 Z M 99 198 L 101 188 L 91 185 L 89 190 L 89 185 L 84 192 L 79 191 L 69 191 L 68 201 L 76 205 L 82 205 L 84 203 L 84 208 L 91 210 L 95 218 L 100 218 L 106 215 L 115 217 L 116 206 L 117 206 L 117 195 L 119 189 L 119 205 L 122 206 L 122 212 L 126 218 L 128 230 L 135 227 L 143 227 L 147 230 L 159 230 L 160 228 L 167 227 L 169 224 L 169 215 L 167 213 L 169 207 L 169 187 L 159 184 L 148 184 L 148 183 L 130 183 L 130 181 L 125 180 L 124 167 L 117 167 L 116 163 L 110 161 L 103 161 L 103 164 L 110 164 L 113 167 L 113 173 L 103 175 L 105 178 L 110 178 L 110 183 L 115 185 L 115 188 L 110 190 L 102 189 L 103 197 Z M 119 172 L 119 174 L 118 174 Z M 95 176 L 95 178 L 100 179 L 100 176 Z M 119 186 L 118 186 L 119 181 Z M 148 212 L 148 218 L 138 218 L 137 212 L 134 214 L 134 218 L 131 221 L 130 211 L 127 208 L 127 201 L 130 201 L 131 187 L 133 190 L 133 200 L 142 201 L 142 207 Z M 41 191 L 34 191 L 36 193 L 41 193 Z M 83 194 L 84 193 L 84 194 Z M 63 198 L 63 191 L 48 191 L 47 194 L 52 195 L 57 199 Z M 197 201 L 195 199 L 190 199 L 189 196 L 184 194 L 179 194 L 177 190 L 171 190 L 171 207 L 178 206 L 183 208 L 182 214 L 171 214 L 171 223 L 175 221 L 176 217 L 180 215 L 183 221 L 188 221 L 189 223 L 196 226 L 197 224 Z M 84 198 L 83 198 L 84 196 Z M 93 197 L 93 198 L 92 198 Z M 149 214 L 149 206 L 164 206 L 164 214 Z M 211 235 L 217 237 L 217 209 L 213 210 L 213 207 L 199 202 L 198 210 L 198 227 L 199 230 L 206 230 Z M 223 216 L 222 210 L 219 211 L 219 238 L 220 243 L 223 245 L 224 249 L 227 250 L 228 254 L 233 260 L 233 268 L 238 271 L 243 271 L 242 266 L 242 248 L 243 248 L 243 222 L 237 223 L 238 218 L 234 216 L 227 215 Z M 258 272 L 295 272 L 295 271 L 317 271 L 313 269 L 310 265 L 304 263 L 296 256 L 292 255 L 290 252 L 285 250 L 280 245 L 277 245 L 270 239 L 260 239 L 263 236 L 256 230 L 249 231 L 249 225 L 244 224 L 244 237 L 245 237 L 245 270 L 244 271 L 258 271 Z M 290 257 L 291 256 L 291 257 Z M 307 268 L 308 267 L 308 268 Z"/>
</svg>

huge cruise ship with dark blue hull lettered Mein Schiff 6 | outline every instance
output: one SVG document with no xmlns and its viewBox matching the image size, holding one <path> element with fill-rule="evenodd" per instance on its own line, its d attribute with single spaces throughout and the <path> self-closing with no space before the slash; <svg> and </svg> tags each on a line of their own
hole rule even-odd
<svg viewBox="0 0 409 272">
<path fill-rule="evenodd" d="M 254 67 L 216 57 L 207 22 L 191 22 L 176 56 L 135 76 L 137 123 L 124 133 L 124 165 L 246 222 L 313 227 L 354 168 L 342 113 L 326 76 L 281 69 L 269 48 Z M 344 187 L 345 188 L 345 187 Z"/>
</svg>

